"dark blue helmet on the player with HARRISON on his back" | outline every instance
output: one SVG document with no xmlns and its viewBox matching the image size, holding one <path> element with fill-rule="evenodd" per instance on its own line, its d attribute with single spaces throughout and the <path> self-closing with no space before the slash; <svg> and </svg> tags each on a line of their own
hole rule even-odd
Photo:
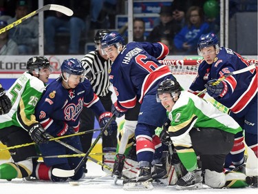
<svg viewBox="0 0 258 194">
<path fill-rule="evenodd" d="M 123 46 L 125 45 L 125 40 L 118 32 L 110 32 L 109 34 L 105 35 L 101 40 L 101 48 L 107 48 L 112 45 L 118 48 L 118 43 Z"/>
</svg>

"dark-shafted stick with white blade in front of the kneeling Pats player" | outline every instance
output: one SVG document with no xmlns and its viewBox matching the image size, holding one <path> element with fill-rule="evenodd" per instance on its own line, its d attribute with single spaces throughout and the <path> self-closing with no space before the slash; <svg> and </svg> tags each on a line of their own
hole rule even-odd
<svg viewBox="0 0 258 194">
<path fill-rule="evenodd" d="M 105 133 L 105 130 L 107 129 L 109 124 L 111 124 L 111 122 L 114 118 L 115 118 L 115 115 L 113 114 L 112 117 L 109 119 L 109 122 L 107 122 L 107 124 L 105 125 L 103 130 L 100 131 L 100 134 L 98 135 L 98 137 L 96 137 L 95 141 L 92 143 L 92 146 L 89 148 L 87 153 L 85 153 L 85 156 L 80 161 L 80 163 L 76 166 L 76 168 L 74 168 L 73 170 L 63 170 L 60 168 L 54 168 L 52 170 L 52 174 L 56 177 L 72 177 L 73 175 L 75 175 L 78 172 L 78 170 L 80 169 L 80 167 L 84 165 L 89 153 L 92 151 L 94 146 L 96 146 L 96 144 L 98 143 L 98 140 L 100 139 L 100 137 L 102 137 L 103 133 Z"/>
</svg>

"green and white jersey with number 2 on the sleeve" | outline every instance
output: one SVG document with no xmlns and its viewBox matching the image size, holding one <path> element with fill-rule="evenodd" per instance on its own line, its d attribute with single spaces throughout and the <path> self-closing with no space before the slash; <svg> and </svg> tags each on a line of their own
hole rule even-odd
<svg viewBox="0 0 258 194">
<path fill-rule="evenodd" d="M 171 120 L 169 135 L 172 140 L 182 139 L 193 127 L 217 128 L 233 134 L 242 130 L 232 117 L 187 91 L 181 92 L 180 98 L 171 112 L 167 112 L 167 116 Z"/>
</svg>

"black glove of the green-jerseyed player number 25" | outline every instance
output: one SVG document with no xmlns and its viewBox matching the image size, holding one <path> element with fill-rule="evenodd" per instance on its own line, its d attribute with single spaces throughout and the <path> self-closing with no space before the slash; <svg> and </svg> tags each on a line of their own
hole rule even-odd
<svg viewBox="0 0 258 194">
<path fill-rule="evenodd" d="M 41 144 L 50 140 L 50 135 L 45 132 L 45 129 L 43 129 L 39 123 L 31 125 L 29 135 L 36 144 Z"/>
</svg>

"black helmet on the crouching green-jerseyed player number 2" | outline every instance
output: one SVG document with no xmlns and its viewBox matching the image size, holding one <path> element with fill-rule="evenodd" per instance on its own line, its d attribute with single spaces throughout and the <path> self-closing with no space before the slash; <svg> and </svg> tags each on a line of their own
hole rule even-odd
<svg viewBox="0 0 258 194">
<path fill-rule="evenodd" d="M 166 79 L 158 85 L 158 93 L 156 99 L 158 102 L 160 102 L 159 95 L 162 95 L 164 93 L 169 93 L 173 98 L 178 97 L 180 95 L 181 90 L 182 88 L 178 81 Z"/>
</svg>

